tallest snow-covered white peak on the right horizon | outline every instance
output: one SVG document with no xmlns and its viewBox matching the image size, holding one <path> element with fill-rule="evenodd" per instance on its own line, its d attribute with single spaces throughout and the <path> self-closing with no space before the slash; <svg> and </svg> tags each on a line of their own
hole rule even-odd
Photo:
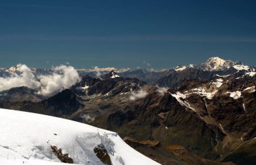
<svg viewBox="0 0 256 165">
<path fill-rule="evenodd" d="M 224 69 L 229 69 L 234 65 L 241 65 L 241 62 L 234 62 L 230 60 L 220 59 L 219 57 L 211 57 L 207 59 L 205 63 L 201 63 L 199 68 L 205 71 L 219 71 Z"/>
</svg>

